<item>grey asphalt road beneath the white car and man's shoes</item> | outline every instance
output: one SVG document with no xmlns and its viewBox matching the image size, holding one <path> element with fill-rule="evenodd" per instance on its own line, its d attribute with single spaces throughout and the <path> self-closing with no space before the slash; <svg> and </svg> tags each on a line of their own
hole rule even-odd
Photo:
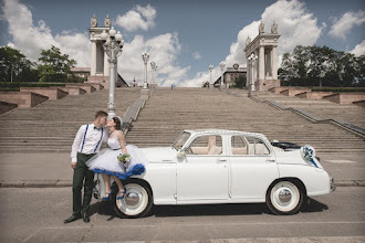
<svg viewBox="0 0 365 243">
<path fill-rule="evenodd" d="M 316 197 L 299 214 L 264 204 L 158 207 L 144 219 L 116 218 L 93 201 L 91 223 L 63 224 L 71 188 L 1 188 L 0 242 L 364 242 L 364 187 Z"/>
</svg>

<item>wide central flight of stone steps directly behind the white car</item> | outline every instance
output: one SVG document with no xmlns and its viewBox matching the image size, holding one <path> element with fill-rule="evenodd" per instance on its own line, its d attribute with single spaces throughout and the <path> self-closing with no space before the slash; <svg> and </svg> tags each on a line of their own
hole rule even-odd
<svg viewBox="0 0 365 243">
<path fill-rule="evenodd" d="M 184 129 L 221 128 L 264 134 L 269 139 L 310 144 L 317 152 L 365 154 L 364 139 L 290 110 L 208 88 L 156 88 L 126 136 L 139 147 L 169 146 Z M 300 99 L 302 101 L 302 99 Z"/>
</svg>

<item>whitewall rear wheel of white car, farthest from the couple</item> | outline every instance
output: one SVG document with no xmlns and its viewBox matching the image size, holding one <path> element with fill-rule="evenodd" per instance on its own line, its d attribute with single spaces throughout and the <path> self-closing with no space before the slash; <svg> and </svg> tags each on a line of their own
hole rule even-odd
<svg viewBox="0 0 365 243">
<path fill-rule="evenodd" d="M 273 183 L 267 193 L 267 204 L 275 214 L 298 213 L 302 207 L 304 193 L 295 183 L 282 180 Z"/>
</svg>

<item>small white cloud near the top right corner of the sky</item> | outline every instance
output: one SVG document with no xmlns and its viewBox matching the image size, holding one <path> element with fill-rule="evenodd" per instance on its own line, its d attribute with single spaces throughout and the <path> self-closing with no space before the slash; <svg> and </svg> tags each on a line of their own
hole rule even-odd
<svg viewBox="0 0 365 243">
<path fill-rule="evenodd" d="M 340 20 L 334 21 L 328 34 L 345 40 L 351 29 L 355 25 L 362 25 L 364 22 L 365 11 L 358 10 L 357 12 L 346 12 Z"/>
</svg>

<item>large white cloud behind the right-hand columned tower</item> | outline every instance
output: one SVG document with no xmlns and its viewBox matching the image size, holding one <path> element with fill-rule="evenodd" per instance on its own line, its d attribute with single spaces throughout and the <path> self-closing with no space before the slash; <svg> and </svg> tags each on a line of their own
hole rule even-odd
<svg viewBox="0 0 365 243">
<path fill-rule="evenodd" d="M 278 64 L 283 53 L 291 52 L 296 45 L 313 45 L 320 38 L 325 24 L 317 25 L 317 19 L 313 13 L 309 13 L 305 3 L 298 0 L 279 0 L 275 3 L 265 8 L 261 15 L 262 22 L 265 24 L 265 32 L 270 33 L 271 24 L 275 21 L 279 25 L 278 32 L 281 35 L 278 47 Z M 226 67 L 238 63 L 240 66 L 246 66 L 246 40 L 248 36 L 253 40 L 259 34 L 260 21 L 253 21 L 243 27 L 238 33 L 237 41 L 230 46 L 230 54 L 223 61 Z M 217 63 L 216 65 L 218 65 Z M 213 81 L 220 76 L 220 67 L 216 66 L 212 71 Z M 209 71 L 198 73 L 192 80 L 186 81 L 187 86 L 201 86 L 202 82 L 210 80 Z"/>
</svg>

